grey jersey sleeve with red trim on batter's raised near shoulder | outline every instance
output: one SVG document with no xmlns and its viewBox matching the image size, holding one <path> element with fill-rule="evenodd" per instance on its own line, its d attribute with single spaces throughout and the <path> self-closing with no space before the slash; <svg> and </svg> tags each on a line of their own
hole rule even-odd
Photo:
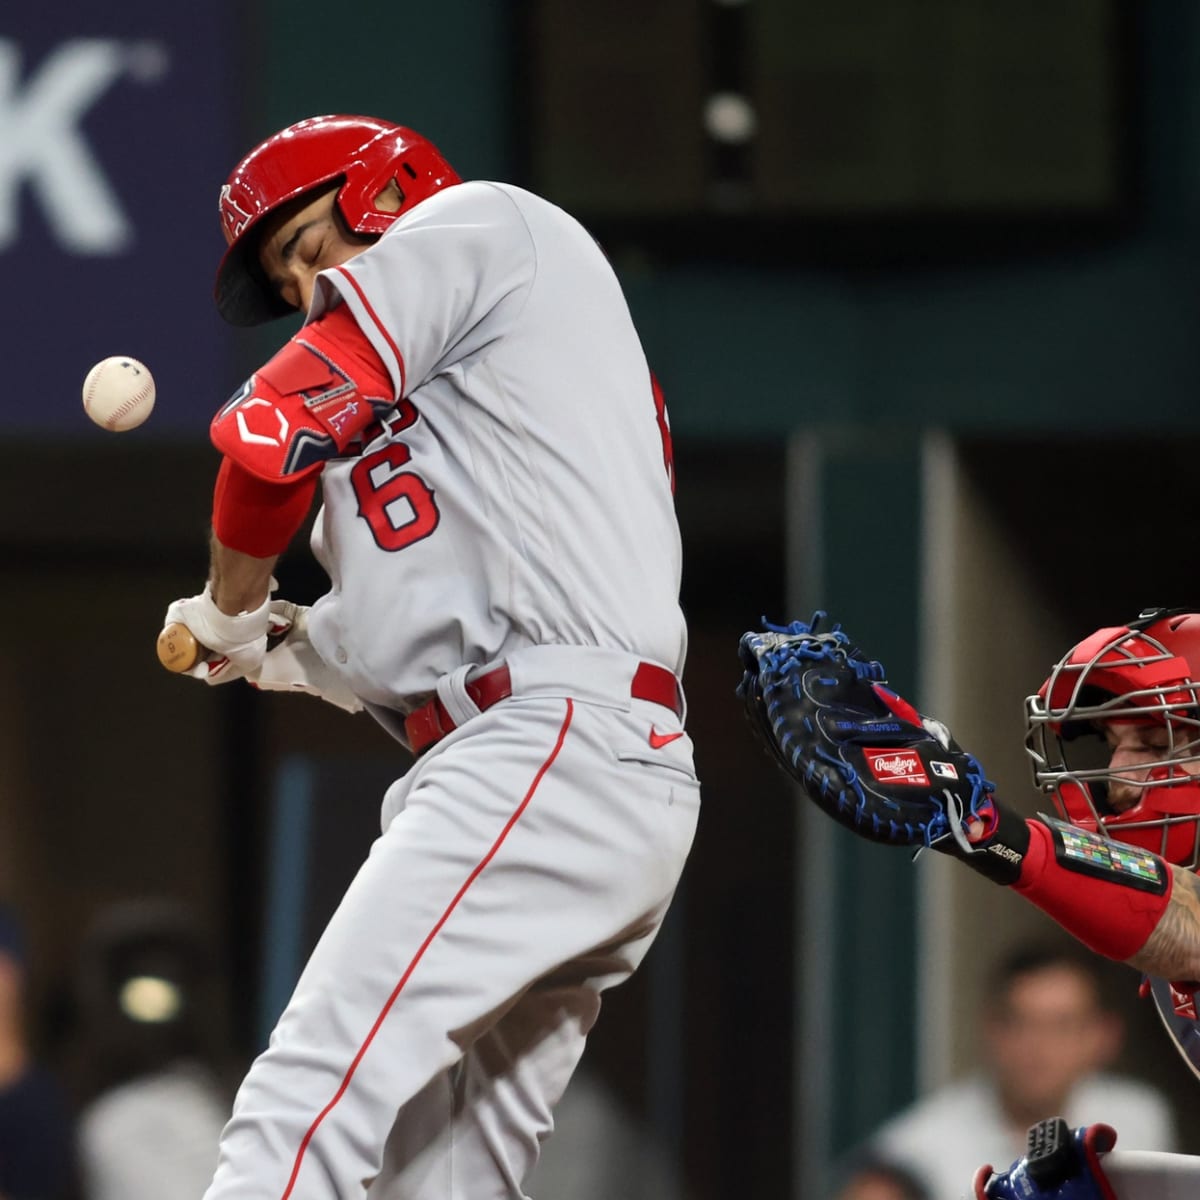
<svg viewBox="0 0 1200 1200">
<path fill-rule="evenodd" d="M 314 312 L 344 301 L 398 396 L 486 354 L 511 328 L 536 274 L 529 229 L 505 188 L 458 184 L 376 245 L 318 277 Z"/>
</svg>

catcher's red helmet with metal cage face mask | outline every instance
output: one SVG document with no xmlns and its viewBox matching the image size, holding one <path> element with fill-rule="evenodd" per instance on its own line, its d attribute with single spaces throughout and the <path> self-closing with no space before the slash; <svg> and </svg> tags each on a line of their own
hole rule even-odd
<svg viewBox="0 0 1200 1200">
<path fill-rule="evenodd" d="M 1150 608 L 1070 649 L 1025 702 L 1033 779 L 1072 824 L 1150 850 L 1169 863 L 1200 862 L 1200 613 Z M 1139 767 L 1145 786 L 1117 812 L 1103 743 L 1109 722 L 1160 726 L 1162 756 Z M 1099 739 L 1099 740 L 1097 740 Z"/>
</svg>

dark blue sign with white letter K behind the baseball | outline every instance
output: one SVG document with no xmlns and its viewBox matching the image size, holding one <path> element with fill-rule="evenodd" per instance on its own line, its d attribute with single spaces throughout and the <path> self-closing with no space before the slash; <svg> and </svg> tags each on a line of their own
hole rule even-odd
<svg viewBox="0 0 1200 1200">
<path fill-rule="evenodd" d="M 80 388 L 150 367 L 137 436 L 203 437 L 233 379 L 217 193 L 246 146 L 232 0 L 70 0 L 0 23 L 0 437 L 113 437 Z M 134 434 L 122 434 L 125 437 Z"/>
</svg>

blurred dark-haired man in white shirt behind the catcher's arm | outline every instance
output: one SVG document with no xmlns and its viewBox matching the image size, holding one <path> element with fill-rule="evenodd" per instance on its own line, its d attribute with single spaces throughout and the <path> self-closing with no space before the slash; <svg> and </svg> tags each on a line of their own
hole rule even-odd
<svg viewBox="0 0 1200 1200">
<path fill-rule="evenodd" d="M 1030 1126 L 1048 1117 L 1073 1127 L 1103 1118 L 1129 1146 L 1175 1148 L 1165 1098 L 1106 1072 L 1124 1030 L 1082 953 L 1015 949 L 995 966 L 984 1006 L 984 1069 L 919 1099 L 869 1139 L 872 1152 L 923 1180 L 932 1200 L 960 1200 L 982 1163 L 1019 1158 Z"/>
</svg>

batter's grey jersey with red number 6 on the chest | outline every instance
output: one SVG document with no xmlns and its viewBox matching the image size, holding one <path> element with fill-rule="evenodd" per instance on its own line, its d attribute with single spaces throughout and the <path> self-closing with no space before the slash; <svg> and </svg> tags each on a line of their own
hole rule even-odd
<svg viewBox="0 0 1200 1200">
<path fill-rule="evenodd" d="M 324 472 L 322 656 L 392 707 L 527 646 L 604 646 L 679 673 L 665 414 L 587 232 L 521 188 L 463 184 L 326 272 L 313 316 L 337 300 L 412 424 Z"/>
</svg>

